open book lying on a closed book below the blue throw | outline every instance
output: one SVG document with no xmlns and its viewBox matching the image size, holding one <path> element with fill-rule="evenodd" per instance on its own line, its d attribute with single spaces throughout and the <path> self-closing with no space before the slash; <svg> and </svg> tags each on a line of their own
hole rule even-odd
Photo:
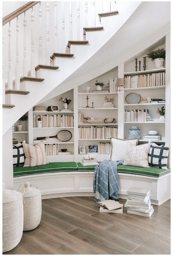
<svg viewBox="0 0 172 256">
<path fill-rule="evenodd" d="M 115 200 L 105 200 L 98 202 L 101 213 L 123 213 L 123 204 Z"/>
</svg>

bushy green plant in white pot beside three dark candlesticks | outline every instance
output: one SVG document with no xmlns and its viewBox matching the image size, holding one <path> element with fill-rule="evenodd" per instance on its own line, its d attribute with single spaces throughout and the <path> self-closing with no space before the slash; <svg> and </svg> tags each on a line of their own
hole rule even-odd
<svg viewBox="0 0 172 256">
<path fill-rule="evenodd" d="M 155 67 L 163 67 L 163 62 L 166 57 L 166 50 L 158 48 L 147 53 L 148 58 L 155 63 Z"/>
</svg>

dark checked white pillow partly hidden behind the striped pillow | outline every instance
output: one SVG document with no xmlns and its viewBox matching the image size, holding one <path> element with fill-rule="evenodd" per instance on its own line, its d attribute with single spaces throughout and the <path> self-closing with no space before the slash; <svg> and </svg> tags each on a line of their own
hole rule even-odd
<svg viewBox="0 0 172 256">
<path fill-rule="evenodd" d="M 23 143 L 25 140 L 13 145 L 13 166 L 23 166 L 25 163 Z"/>
</svg>

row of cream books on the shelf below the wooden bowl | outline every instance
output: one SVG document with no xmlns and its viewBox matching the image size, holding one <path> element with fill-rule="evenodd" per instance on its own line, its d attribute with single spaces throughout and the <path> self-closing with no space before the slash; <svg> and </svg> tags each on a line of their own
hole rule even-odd
<svg viewBox="0 0 172 256">
<path fill-rule="evenodd" d="M 110 139 L 111 137 L 117 138 L 118 129 L 115 127 L 79 127 L 79 139 Z"/>
</svg>

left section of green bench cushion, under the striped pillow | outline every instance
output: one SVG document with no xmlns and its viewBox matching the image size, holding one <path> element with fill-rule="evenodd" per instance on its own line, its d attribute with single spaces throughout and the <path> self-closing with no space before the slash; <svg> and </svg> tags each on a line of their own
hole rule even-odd
<svg viewBox="0 0 172 256">
<path fill-rule="evenodd" d="M 77 171 L 76 162 L 52 162 L 40 166 L 14 166 L 13 174 L 16 176 L 31 175 L 31 174 L 42 174 L 47 172 L 58 172 L 58 171 Z"/>
</svg>

